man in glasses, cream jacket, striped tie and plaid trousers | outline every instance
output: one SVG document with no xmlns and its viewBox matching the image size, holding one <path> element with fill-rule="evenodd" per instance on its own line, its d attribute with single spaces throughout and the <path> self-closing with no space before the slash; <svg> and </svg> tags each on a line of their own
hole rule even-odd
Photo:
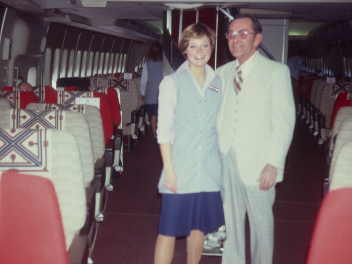
<svg viewBox="0 0 352 264">
<path fill-rule="evenodd" d="M 223 87 L 217 118 L 226 224 L 222 263 L 245 263 L 247 213 L 251 263 L 269 264 L 275 184 L 283 180 L 295 124 L 290 71 L 256 52 L 262 35 L 254 17 L 234 19 L 226 37 L 237 59 L 217 70 Z"/>
</svg>

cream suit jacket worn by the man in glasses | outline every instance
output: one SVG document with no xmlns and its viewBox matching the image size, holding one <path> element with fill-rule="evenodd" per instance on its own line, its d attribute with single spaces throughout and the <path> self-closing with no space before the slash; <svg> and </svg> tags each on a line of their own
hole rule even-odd
<svg viewBox="0 0 352 264">
<path fill-rule="evenodd" d="M 216 71 L 223 86 L 217 117 L 220 152 L 227 154 L 234 147 L 240 178 L 247 186 L 259 185 L 267 164 L 278 168 L 276 182 L 281 182 L 296 119 L 289 68 L 257 53 L 241 92 L 235 94 L 236 100 L 241 99 L 239 111 L 233 113 L 235 130 L 221 131 L 223 122 L 233 122 L 224 120 L 224 113 L 227 94 L 234 89 L 234 72 L 235 61 Z"/>
</svg>

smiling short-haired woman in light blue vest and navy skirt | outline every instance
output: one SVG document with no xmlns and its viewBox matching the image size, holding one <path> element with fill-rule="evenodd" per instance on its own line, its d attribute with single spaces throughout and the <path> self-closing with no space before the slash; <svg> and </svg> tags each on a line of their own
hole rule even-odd
<svg viewBox="0 0 352 264">
<path fill-rule="evenodd" d="M 206 25 L 186 28 L 179 49 L 187 60 L 160 83 L 157 135 L 164 167 L 155 264 L 172 261 L 177 236 L 188 236 L 187 263 L 198 263 L 205 234 L 225 223 L 215 129 L 221 80 L 207 65 L 214 46 L 215 32 Z"/>
</svg>

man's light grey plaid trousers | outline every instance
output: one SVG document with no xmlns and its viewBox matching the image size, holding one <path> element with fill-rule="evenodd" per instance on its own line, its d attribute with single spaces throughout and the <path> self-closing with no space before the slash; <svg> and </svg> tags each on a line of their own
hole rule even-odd
<svg viewBox="0 0 352 264">
<path fill-rule="evenodd" d="M 227 155 L 221 154 L 221 162 L 223 165 L 221 194 L 226 224 L 222 264 L 245 264 L 246 213 L 250 229 L 251 264 L 272 264 L 274 252 L 272 208 L 275 201 L 275 186 L 268 191 L 259 190 L 258 185 L 245 186 L 238 174 L 233 147 Z"/>
</svg>

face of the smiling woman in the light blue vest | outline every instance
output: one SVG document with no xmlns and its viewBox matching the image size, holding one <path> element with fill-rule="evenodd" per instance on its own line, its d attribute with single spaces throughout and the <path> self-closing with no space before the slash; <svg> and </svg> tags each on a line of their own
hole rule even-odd
<svg viewBox="0 0 352 264">
<path fill-rule="evenodd" d="M 196 67 L 204 67 L 211 56 L 210 39 L 204 35 L 200 39 L 191 38 L 186 49 L 190 63 Z"/>
</svg>

